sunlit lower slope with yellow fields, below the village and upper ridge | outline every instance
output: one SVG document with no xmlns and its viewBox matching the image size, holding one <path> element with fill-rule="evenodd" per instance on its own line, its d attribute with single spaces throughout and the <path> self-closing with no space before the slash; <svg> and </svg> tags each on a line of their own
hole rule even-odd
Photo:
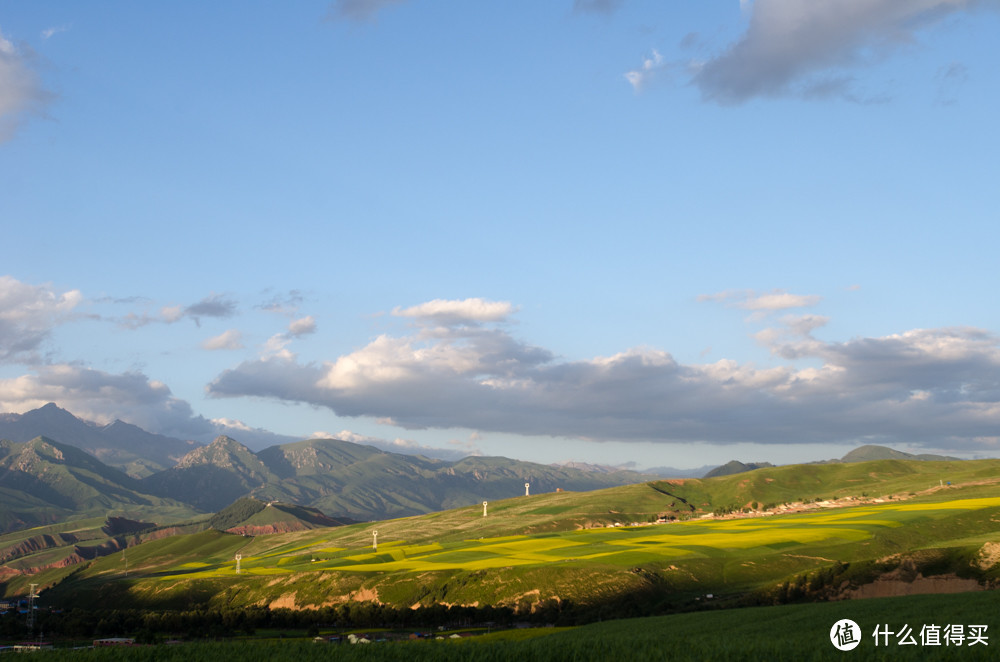
<svg viewBox="0 0 1000 662">
<path fill-rule="evenodd" d="M 72 602 L 93 599 L 97 591 L 103 599 L 113 596 L 134 606 L 176 604 L 192 595 L 216 606 L 303 607 L 362 599 L 515 606 L 525 599 L 585 603 L 655 589 L 690 601 L 707 593 L 775 587 L 838 563 L 854 564 L 854 574 L 845 579 L 864 579 L 857 568 L 871 570 L 877 559 L 935 550 L 935 563 L 952 559 L 935 570 L 940 574 L 954 572 L 956 563 L 971 568 L 979 548 L 1000 542 L 994 521 L 1000 518 L 1000 496 L 978 490 L 972 489 L 971 498 L 949 498 L 963 495 L 956 488 L 877 505 L 531 535 L 476 534 L 503 530 L 503 520 L 537 510 L 538 503 L 530 503 L 535 497 L 496 504 L 493 521 L 479 508 L 475 515 L 458 509 L 256 538 L 204 531 L 129 549 L 128 577 L 121 558 L 96 560 L 54 595 Z M 546 496 L 537 499 L 545 503 Z M 428 519 L 450 522 L 466 537 L 434 540 L 435 527 L 421 527 Z M 371 548 L 374 530 L 377 550 Z M 400 539 L 402 532 L 414 538 Z M 988 580 L 996 573 L 980 569 L 978 576 Z"/>
</svg>

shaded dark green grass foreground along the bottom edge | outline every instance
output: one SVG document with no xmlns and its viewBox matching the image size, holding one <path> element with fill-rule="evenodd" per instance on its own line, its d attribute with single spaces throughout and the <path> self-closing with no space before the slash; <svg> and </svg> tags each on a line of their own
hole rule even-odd
<svg viewBox="0 0 1000 662">
<path fill-rule="evenodd" d="M 305 640 L 246 640 L 186 643 L 129 649 L 60 651 L 60 659 L 104 660 L 400 660 L 408 662 L 595 662 L 605 660 L 986 660 L 1000 647 L 1000 592 L 911 596 L 879 600 L 719 610 L 596 623 L 568 630 L 509 631 L 462 641 L 416 641 L 369 645 L 314 644 Z M 830 628 L 850 618 L 862 628 L 861 644 L 842 652 L 830 643 Z M 876 625 L 898 632 L 909 626 L 986 625 L 988 645 L 900 645 L 889 638 L 876 646 Z M 503 640 L 521 634 L 528 638 Z M 549 634 L 550 632 L 551 634 Z M 538 635 L 538 636 L 531 636 Z"/>
</svg>

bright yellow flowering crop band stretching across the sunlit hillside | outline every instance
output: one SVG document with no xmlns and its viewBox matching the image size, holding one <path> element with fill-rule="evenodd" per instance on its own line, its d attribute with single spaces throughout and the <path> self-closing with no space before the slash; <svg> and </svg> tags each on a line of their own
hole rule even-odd
<svg viewBox="0 0 1000 662">
<path fill-rule="evenodd" d="M 657 526 L 587 529 L 534 536 L 483 537 L 443 544 L 408 544 L 407 541 L 391 540 L 380 542 L 377 551 L 328 546 L 331 534 L 336 536 L 337 531 L 295 534 L 294 543 L 277 536 L 247 542 L 206 533 L 200 534 L 200 542 L 165 541 L 149 545 L 137 560 L 158 558 L 177 545 L 191 546 L 197 549 L 201 558 L 212 559 L 197 564 L 185 562 L 180 566 L 172 565 L 174 572 L 161 576 L 174 580 L 182 576 L 231 576 L 235 572 L 231 553 L 235 554 L 236 550 L 242 552 L 242 569 L 250 575 L 305 570 L 366 573 L 472 571 L 594 561 L 626 566 L 731 554 L 753 558 L 774 553 L 788 554 L 791 550 L 813 546 L 823 547 L 828 555 L 836 557 L 836 547 L 844 543 L 871 540 L 878 534 L 886 534 L 890 529 L 911 523 L 939 521 L 957 513 L 996 508 L 1000 508 L 1000 497 L 923 503 L 901 501 L 770 517 L 691 520 Z M 354 537 L 353 532 L 341 535 Z M 213 544 L 205 544 L 208 540 L 213 540 Z M 188 556 L 190 554 L 172 558 Z M 141 564 L 136 567 L 141 567 Z"/>
</svg>

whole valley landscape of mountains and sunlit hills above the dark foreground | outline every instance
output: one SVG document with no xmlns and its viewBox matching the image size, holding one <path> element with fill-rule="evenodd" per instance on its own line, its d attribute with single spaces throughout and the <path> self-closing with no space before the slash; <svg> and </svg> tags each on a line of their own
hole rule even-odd
<svg viewBox="0 0 1000 662">
<path fill-rule="evenodd" d="M 255 453 L 220 437 L 135 478 L 47 437 L 0 449 L 0 596 L 36 585 L 46 614 L 132 614 L 121 627 L 224 613 L 579 626 L 1000 585 L 1000 460 L 862 447 L 628 481 L 328 439 Z M 586 489 L 595 480 L 627 484 Z"/>
</svg>

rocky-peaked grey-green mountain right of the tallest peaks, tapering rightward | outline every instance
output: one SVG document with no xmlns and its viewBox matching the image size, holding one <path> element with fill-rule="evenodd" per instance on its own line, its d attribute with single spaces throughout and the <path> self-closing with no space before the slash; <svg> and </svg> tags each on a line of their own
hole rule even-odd
<svg viewBox="0 0 1000 662">
<path fill-rule="evenodd" d="M 483 500 L 557 489 L 586 491 L 655 477 L 632 471 L 586 472 L 502 457 L 458 462 L 389 453 L 337 439 L 310 439 L 254 453 L 218 437 L 175 467 L 142 479 L 150 494 L 215 511 L 241 496 L 297 503 L 334 517 L 404 517 Z"/>
</svg>

